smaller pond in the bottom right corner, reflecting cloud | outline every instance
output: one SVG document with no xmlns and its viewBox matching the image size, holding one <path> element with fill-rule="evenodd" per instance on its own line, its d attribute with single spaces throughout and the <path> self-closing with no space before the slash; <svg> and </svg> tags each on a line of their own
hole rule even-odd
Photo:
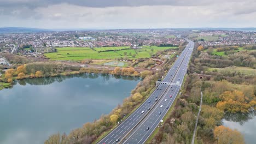
<svg viewBox="0 0 256 144">
<path fill-rule="evenodd" d="M 256 112 L 250 113 L 226 113 L 223 125 L 231 129 L 236 129 L 245 138 L 247 144 L 254 144 L 256 141 Z"/>
</svg>

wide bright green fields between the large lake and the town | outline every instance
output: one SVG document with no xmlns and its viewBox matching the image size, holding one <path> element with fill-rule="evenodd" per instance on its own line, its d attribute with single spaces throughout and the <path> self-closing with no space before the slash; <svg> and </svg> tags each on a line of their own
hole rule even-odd
<svg viewBox="0 0 256 144">
<path fill-rule="evenodd" d="M 57 52 L 44 53 L 44 56 L 52 60 L 71 60 L 71 61 L 81 61 L 83 59 L 117 59 L 117 58 L 125 58 L 125 57 L 129 59 L 136 59 L 136 58 L 148 58 L 160 50 L 176 49 L 177 47 L 143 46 L 141 49 L 137 49 L 137 50 L 135 49 L 116 50 L 119 48 L 117 47 L 99 47 L 99 49 L 95 48 L 98 50 L 104 50 L 100 52 L 100 51 L 92 50 L 90 47 L 58 47 L 56 48 Z M 115 51 L 106 51 L 106 50 L 113 50 L 113 49 Z M 127 47 L 125 49 L 127 49 Z M 153 51 L 151 51 L 151 49 L 153 49 Z M 125 55 L 125 52 L 126 52 L 126 55 Z"/>
</svg>

